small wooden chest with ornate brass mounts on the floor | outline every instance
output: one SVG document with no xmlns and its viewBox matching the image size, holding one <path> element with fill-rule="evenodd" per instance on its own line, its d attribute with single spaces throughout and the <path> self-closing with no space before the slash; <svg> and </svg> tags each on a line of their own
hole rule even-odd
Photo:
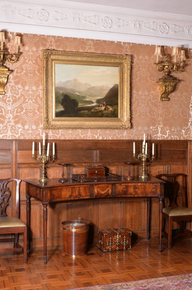
<svg viewBox="0 0 192 290">
<path fill-rule="evenodd" d="M 104 252 L 130 250 L 131 231 L 125 228 L 98 230 L 98 247 Z"/>
</svg>

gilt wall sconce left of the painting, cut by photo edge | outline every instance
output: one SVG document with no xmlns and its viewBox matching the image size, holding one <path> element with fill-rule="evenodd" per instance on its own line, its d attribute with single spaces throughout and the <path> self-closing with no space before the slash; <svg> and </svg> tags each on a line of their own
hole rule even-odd
<svg viewBox="0 0 192 290">
<path fill-rule="evenodd" d="M 19 58 L 19 46 L 21 45 L 21 37 L 15 35 L 14 43 L 13 45 L 16 46 L 16 52 L 13 54 L 10 54 L 7 50 L 4 49 L 4 42 L 5 42 L 5 33 L 0 32 L 0 42 L 1 42 L 1 49 L 0 49 L 0 95 L 4 95 L 5 91 L 5 85 L 7 83 L 7 77 L 11 73 L 11 70 L 9 70 L 4 63 L 6 61 L 9 61 L 10 63 L 16 62 Z M 13 55 L 15 56 L 14 59 L 12 59 Z"/>
</svg>

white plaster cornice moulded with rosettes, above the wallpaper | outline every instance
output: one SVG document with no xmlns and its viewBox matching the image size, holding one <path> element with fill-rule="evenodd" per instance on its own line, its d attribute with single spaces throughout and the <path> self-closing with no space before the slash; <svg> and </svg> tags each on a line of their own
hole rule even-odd
<svg viewBox="0 0 192 290">
<path fill-rule="evenodd" d="M 0 30 L 192 48 L 192 16 L 61 0 L 6 0 L 0 9 Z"/>
</svg>

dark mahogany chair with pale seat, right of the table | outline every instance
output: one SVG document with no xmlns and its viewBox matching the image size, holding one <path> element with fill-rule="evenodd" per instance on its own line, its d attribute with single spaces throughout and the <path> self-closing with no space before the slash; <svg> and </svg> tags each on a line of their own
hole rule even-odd
<svg viewBox="0 0 192 290">
<path fill-rule="evenodd" d="M 168 239 L 168 248 L 172 247 L 172 222 L 181 222 L 179 233 L 174 234 L 174 236 L 189 236 L 192 235 L 192 232 L 185 229 L 186 221 L 192 220 L 192 208 L 187 207 L 187 175 L 183 173 L 178 174 L 159 174 L 156 175 L 157 178 L 160 178 L 166 181 L 164 192 L 165 197 L 169 199 L 168 207 L 163 208 L 162 214 L 162 225 L 163 229 L 159 230 L 160 235 L 163 235 Z M 177 198 L 179 196 L 179 182 L 178 179 L 182 181 L 182 201 L 179 202 L 182 206 L 178 206 Z M 179 196 L 180 197 L 180 196 Z M 168 223 L 167 233 L 165 232 L 165 223 L 164 220 Z M 185 223 L 184 223 L 185 222 Z"/>
</svg>

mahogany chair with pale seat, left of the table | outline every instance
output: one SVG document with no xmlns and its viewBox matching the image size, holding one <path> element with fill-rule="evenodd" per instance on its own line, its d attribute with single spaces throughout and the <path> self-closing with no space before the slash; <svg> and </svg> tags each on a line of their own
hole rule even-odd
<svg viewBox="0 0 192 290">
<path fill-rule="evenodd" d="M 6 208 L 9 202 L 11 191 L 7 187 L 7 183 L 10 181 L 16 181 L 16 207 L 15 217 L 8 217 L 6 214 Z M 13 248 L 0 249 L 0 253 L 6 252 L 19 252 L 22 251 L 22 247 L 18 244 L 18 233 L 24 235 L 24 263 L 27 262 L 27 226 L 22 220 L 19 219 L 19 185 L 21 179 L 10 178 L 0 179 L 0 234 L 14 234 L 14 238 L 0 239 L 0 242 L 11 242 L 13 241 Z"/>
</svg>

